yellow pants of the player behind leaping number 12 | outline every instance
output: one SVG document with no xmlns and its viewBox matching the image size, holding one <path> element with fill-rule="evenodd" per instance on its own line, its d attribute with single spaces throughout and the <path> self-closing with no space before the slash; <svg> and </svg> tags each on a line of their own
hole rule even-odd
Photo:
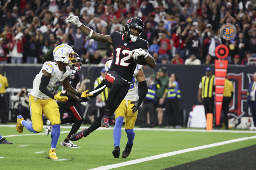
<svg viewBox="0 0 256 170">
<path fill-rule="evenodd" d="M 132 101 L 123 100 L 114 112 L 115 118 L 121 116 L 125 119 L 125 129 L 133 129 L 135 121 L 137 119 L 138 110 L 135 113 L 132 113 Z"/>
</svg>

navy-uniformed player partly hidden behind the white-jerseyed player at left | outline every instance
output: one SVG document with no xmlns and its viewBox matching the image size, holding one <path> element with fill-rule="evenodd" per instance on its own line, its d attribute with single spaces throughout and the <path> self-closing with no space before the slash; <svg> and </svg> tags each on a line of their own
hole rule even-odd
<svg viewBox="0 0 256 170">
<path fill-rule="evenodd" d="M 71 68 L 71 74 L 68 77 L 69 84 L 78 91 L 79 86 L 80 86 L 80 75 L 79 75 L 79 70 L 81 70 L 81 60 L 77 55 L 77 61 L 75 65 L 72 65 Z M 65 112 L 68 113 L 68 117 L 60 119 L 60 124 L 65 124 L 65 123 L 73 123 L 72 128 L 66 137 L 64 141 L 61 142 L 62 147 L 77 147 L 77 145 L 74 145 L 72 141 L 70 141 L 71 135 L 76 133 L 77 130 L 79 130 L 80 126 L 84 122 L 83 114 L 82 114 L 82 109 L 80 107 L 79 98 L 73 94 L 71 94 L 69 91 L 67 91 L 65 88 L 62 86 L 62 93 L 60 96 L 67 96 L 68 101 L 66 102 L 60 102 L 59 104 L 61 107 L 65 110 Z M 48 136 L 49 132 L 52 130 L 52 125 L 49 120 L 46 121 L 46 127 L 45 127 L 45 135 Z"/>
</svg>

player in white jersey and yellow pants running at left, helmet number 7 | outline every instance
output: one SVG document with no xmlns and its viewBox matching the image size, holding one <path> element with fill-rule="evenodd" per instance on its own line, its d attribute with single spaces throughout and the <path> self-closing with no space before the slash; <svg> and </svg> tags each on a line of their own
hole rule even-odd
<svg viewBox="0 0 256 170">
<path fill-rule="evenodd" d="M 70 68 L 76 63 L 75 52 L 69 45 L 61 44 L 53 50 L 54 62 L 45 62 L 42 69 L 33 81 L 33 89 L 29 96 L 30 116 L 32 122 L 27 122 L 21 115 L 17 116 L 16 129 L 23 132 L 23 127 L 30 132 L 39 133 L 43 130 L 42 113 L 51 121 L 53 131 L 52 142 L 49 151 L 50 159 L 58 159 L 56 156 L 56 145 L 60 135 L 60 114 L 56 101 L 66 102 L 67 96 L 60 96 L 61 92 L 54 95 L 55 89 L 62 83 L 63 87 L 78 97 L 89 97 L 86 91 L 77 92 L 70 84 Z"/>
</svg>

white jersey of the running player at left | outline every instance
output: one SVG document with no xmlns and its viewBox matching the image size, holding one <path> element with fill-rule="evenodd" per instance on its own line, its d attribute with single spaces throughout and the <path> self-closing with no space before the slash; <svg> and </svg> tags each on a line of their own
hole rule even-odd
<svg viewBox="0 0 256 170">
<path fill-rule="evenodd" d="M 30 95 L 32 95 L 38 99 L 51 99 L 49 96 L 43 94 L 39 90 L 39 85 L 41 83 L 43 70 L 47 71 L 47 73 L 52 75 L 52 77 L 50 78 L 50 82 L 47 85 L 47 89 L 51 93 L 54 93 L 56 87 L 58 87 L 60 83 L 62 83 L 67 77 L 70 76 L 70 73 L 71 73 L 70 67 L 66 66 L 67 71 L 63 74 L 63 71 L 59 70 L 59 67 L 58 67 L 58 65 L 56 65 L 55 62 L 45 62 L 43 64 L 43 67 L 40 70 L 39 74 L 37 74 L 37 76 L 35 76 L 35 79 L 33 81 L 33 89 L 30 92 Z"/>
</svg>

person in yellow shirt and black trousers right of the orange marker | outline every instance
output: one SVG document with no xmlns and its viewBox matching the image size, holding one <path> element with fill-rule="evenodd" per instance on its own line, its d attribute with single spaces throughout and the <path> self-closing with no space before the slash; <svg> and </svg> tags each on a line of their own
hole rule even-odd
<svg viewBox="0 0 256 170">
<path fill-rule="evenodd" d="M 229 103 L 233 98 L 233 83 L 231 83 L 228 79 L 225 79 L 224 84 L 224 92 L 223 92 L 223 101 L 222 101 L 222 112 L 224 116 L 225 129 L 228 129 L 228 110 Z"/>
</svg>

